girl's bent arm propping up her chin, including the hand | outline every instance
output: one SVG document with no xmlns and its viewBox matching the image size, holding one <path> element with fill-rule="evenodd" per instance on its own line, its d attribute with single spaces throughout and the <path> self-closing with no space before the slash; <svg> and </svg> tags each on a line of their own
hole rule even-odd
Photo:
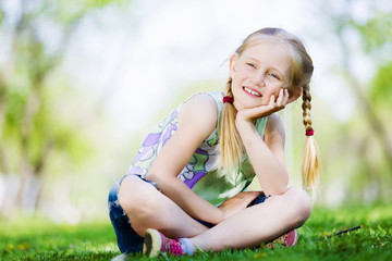
<svg viewBox="0 0 392 261">
<path fill-rule="evenodd" d="M 245 150 L 266 195 L 281 195 L 287 188 L 289 174 L 284 158 L 284 128 L 278 115 L 284 108 L 289 94 L 283 91 L 277 101 L 271 97 L 269 104 L 244 109 L 237 113 L 235 124 Z M 271 115 L 272 114 L 272 115 Z M 254 119 L 269 117 L 265 140 L 257 133 Z"/>
</svg>

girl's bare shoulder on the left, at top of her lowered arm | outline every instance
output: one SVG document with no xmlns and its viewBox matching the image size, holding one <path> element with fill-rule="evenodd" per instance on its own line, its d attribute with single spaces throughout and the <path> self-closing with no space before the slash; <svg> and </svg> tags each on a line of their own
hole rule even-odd
<svg viewBox="0 0 392 261">
<path fill-rule="evenodd" d="M 218 105 L 207 94 L 197 94 L 187 100 L 179 111 L 179 127 L 189 126 L 195 130 L 212 133 L 217 126 Z"/>
</svg>

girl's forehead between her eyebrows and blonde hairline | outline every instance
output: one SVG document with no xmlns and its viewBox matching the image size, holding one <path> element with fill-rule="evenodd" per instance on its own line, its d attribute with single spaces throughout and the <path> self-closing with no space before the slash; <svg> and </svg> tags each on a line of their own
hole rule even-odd
<svg viewBox="0 0 392 261">
<path fill-rule="evenodd" d="M 279 69 L 286 73 L 291 67 L 289 47 L 279 41 L 254 40 L 241 53 L 244 59 L 254 59 L 258 62 Z"/>
</svg>

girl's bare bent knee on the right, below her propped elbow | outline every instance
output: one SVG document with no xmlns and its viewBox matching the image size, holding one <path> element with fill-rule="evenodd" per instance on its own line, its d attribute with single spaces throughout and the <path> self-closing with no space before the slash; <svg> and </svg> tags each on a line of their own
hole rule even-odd
<svg viewBox="0 0 392 261">
<path fill-rule="evenodd" d="M 286 191 L 289 206 L 290 206 L 290 219 L 293 222 L 293 226 L 302 226 L 311 213 L 311 202 L 309 196 L 299 188 L 290 188 Z"/>
</svg>

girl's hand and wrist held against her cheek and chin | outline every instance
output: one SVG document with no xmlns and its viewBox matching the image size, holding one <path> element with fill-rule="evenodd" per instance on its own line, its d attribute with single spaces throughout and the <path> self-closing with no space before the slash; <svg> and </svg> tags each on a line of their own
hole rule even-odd
<svg viewBox="0 0 392 261">
<path fill-rule="evenodd" d="M 278 99 L 272 95 L 268 104 L 259 105 L 255 108 L 243 109 L 237 112 L 236 121 L 237 120 L 245 120 L 247 122 L 254 123 L 257 119 L 269 116 L 272 113 L 280 111 L 285 108 L 289 103 L 289 90 L 281 89 L 279 91 Z"/>
</svg>

